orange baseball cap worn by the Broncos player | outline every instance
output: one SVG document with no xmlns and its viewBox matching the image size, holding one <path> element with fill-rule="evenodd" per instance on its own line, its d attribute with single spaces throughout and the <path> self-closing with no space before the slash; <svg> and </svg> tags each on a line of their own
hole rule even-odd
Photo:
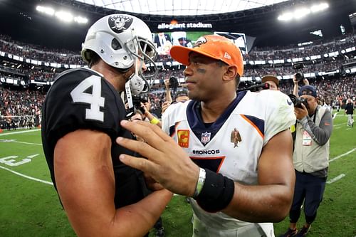
<svg viewBox="0 0 356 237">
<path fill-rule="evenodd" d="M 192 52 L 221 60 L 228 65 L 235 65 L 240 76 L 244 73 L 244 60 L 239 47 L 224 36 L 201 36 L 197 42 L 194 43 L 193 48 L 173 46 L 170 54 L 172 58 L 179 63 L 189 65 L 189 53 Z"/>
</svg>

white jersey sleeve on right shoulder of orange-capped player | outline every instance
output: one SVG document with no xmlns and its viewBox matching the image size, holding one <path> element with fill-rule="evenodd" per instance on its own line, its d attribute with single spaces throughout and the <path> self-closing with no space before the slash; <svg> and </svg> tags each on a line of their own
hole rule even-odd
<svg viewBox="0 0 356 237">
<path fill-rule="evenodd" d="M 295 124 L 293 102 L 280 91 L 264 90 L 263 100 L 267 102 L 266 125 L 263 146 L 278 132 L 289 129 Z"/>
</svg>

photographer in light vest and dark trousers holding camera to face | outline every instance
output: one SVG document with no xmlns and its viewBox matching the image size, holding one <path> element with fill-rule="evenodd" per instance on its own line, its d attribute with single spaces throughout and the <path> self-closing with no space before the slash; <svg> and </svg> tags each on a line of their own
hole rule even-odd
<svg viewBox="0 0 356 237">
<path fill-rule="evenodd" d="M 298 83 L 295 87 L 298 90 Z M 315 87 L 304 85 L 299 90 L 299 96 L 298 102 L 301 103 L 294 107 L 297 117 L 293 132 L 295 189 L 289 213 L 290 227 L 283 236 L 305 236 L 308 233 L 323 199 L 328 177 L 333 117 L 330 110 L 318 105 Z M 305 224 L 298 231 L 297 221 L 303 201 Z"/>
</svg>

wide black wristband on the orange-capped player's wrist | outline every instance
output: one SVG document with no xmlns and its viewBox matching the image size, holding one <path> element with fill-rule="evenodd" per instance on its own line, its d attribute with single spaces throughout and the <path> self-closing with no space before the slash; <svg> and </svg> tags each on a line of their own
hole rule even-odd
<svg viewBox="0 0 356 237">
<path fill-rule="evenodd" d="M 197 196 L 197 203 L 208 212 L 217 212 L 226 208 L 234 196 L 235 184 L 232 179 L 205 169 L 206 179 L 203 189 Z"/>
</svg>

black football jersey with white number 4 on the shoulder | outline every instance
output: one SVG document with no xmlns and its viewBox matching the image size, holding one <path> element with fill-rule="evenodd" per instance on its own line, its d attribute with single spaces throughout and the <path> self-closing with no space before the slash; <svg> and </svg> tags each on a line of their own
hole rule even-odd
<svg viewBox="0 0 356 237">
<path fill-rule="evenodd" d="M 90 129 L 105 132 L 112 140 L 116 208 L 143 198 L 142 173 L 118 158 L 122 153 L 133 154 L 115 142 L 119 136 L 131 137 L 129 131 L 120 127 L 125 115 L 125 106 L 115 88 L 94 70 L 76 68 L 58 75 L 43 103 L 41 125 L 43 151 L 55 187 L 53 154 L 58 139 L 78 129 Z"/>
</svg>

